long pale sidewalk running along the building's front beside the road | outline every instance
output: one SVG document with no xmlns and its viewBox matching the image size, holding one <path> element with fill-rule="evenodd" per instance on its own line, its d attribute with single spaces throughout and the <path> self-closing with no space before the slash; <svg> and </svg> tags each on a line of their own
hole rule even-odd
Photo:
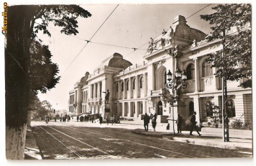
<svg viewBox="0 0 256 166">
<path fill-rule="evenodd" d="M 36 122 L 31 122 L 31 126 L 36 126 Z M 44 122 L 38 125 L 46 125 Z M 200 132 L 202 135 L 198 136 L 196 132 L 193 132 L 193 135 L 189 135 L 189 131 L 182 131 L 182 134 L 175 132 L 173 134 L 171 130 L 166 130 L 167 124 L 157 124 L 156 132 L 152 129 L 152 124 L 148 126 L 148 132 L 145 132 L 143 127 L 143 121 L 120 121 L 119 124 L 99 124 L 99 121 L 92 123 L 88 122 L 77 122 L 70 121 L 66 123 L 50 121 L 47 125 L 58 125 L 58 126 L 86 126 L 86 127 L 99 127 L 99 128 L 125 128 L 129 130 L 134 130 L 134 133 L 141 135 L 148 135 L 150 137 L 158 137 L 161 139 L 166 139 L 170 141 L 186 142 L 189 144 L 196 144 L 200 146 L 209 146 L 209 147 L 218 147 L 223 149 L 234 149 L 236 151 L 243 151 L 245 153 L 252 153 L 252 137 L 244 138 L 244 135 L 230 135 L 230 142 L 223 142 L 220 133 L 212 132 Z M 32 133 L 32 132 L 31 132 Z M 33 134 L 33 133 L 32 133 Z M 31 137 L 32 138 L 32 137 Z M 26 140 L 27 144 L 27 140 Z M 27 147 L 27 146 L 26 146 Z M 38 153 L 39 154 L 39 153 Z"/>
</svg>

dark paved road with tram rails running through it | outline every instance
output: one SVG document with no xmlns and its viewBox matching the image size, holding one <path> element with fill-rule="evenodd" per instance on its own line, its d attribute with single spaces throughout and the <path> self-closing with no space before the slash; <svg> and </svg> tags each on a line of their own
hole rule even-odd
<svg viewBox="0 0 256 166">
<path fill-rule="evenodd" d="M 42 123 L 43 124 L 43 123 Z M 64 124 L 64 123 L 63 123 Z M 250 154 L 139 135 L 124 128 L 33 126 L 43 159 L 76 158 L 230 158 Z"/>
</svg>

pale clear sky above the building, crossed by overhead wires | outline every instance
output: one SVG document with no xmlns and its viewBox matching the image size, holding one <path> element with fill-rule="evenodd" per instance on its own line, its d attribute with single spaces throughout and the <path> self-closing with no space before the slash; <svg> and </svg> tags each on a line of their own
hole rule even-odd
<svg viewBox="0 0 256 166">
<path fill-rule="evenodd" d="M 173 19 L 177 15 L 182 15 L 187 19 L 190 27 L 200 29 L 204 33 L 210 33 L 210 25 L 200 19 L 200 15 L 211 13 L 211 7 L 216 4 L 82 4 L 85 10 L 88 10 L 92 17 L 87 19 L 79 18 L 79 33 L 74 36 L 68 36 L 60 33 L 60 27 L 49 26 L 52 34 L 51 38 L 46 34 L 38 34 L 52 53 L 52 61 L 59 65 L 61 76 L 60 82 L 55 88 L 46 94 L 38 94 L 40 100 L 47 100 L 56 110 L 68 108 L 68 91 L 74 88 L 77 80 L 81 79 L 86 72 L 93 72 L 104 59 L 118 52 L 132 64 L 142 63 L 150 37 L 155 38 L 162 33 L 163 29 L 169 29 L 172 26 Z M 108 20 L 106 18 L 111 14 Z M 93 36 L 101 24 L 104 25 Z M 37 21 L 40 23 L 40 21 Z M 92 40 L 96 43 L 88 43 Z M 97 43 L 106 43 L 100 45 Z M 86 45 L 86 47 L 84 47 Z M 116 45 L 129 48 L 141 47 L 141 50 L 125 49 L 112 47 Z M 83 49 L 84 47 L 84 49 Z M 83 50 L 82 50 L 83 49 Z M 81 51 L 82 50 L 82 51 Z M 79 52 L 81 52 L 79 54 Z M 131 53 L 131 54 L 130 54 Z M 77 56 L 77 54 L 79 54 Z M 75 59 L 75 60 L 74 60 Z M 72 64 L 70 64 L 74 61 Z M 69 66 L 69 67 L 68 67 Z"/>
</svg>

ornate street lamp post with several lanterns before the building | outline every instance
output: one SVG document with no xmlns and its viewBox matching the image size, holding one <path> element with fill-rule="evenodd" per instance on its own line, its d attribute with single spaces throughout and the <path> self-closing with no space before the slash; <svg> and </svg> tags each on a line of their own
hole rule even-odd
<svg viewBox="0 0 256 166">
<path fill-rule="evenodd" d="M 179 68 L 175 71 L 175 77 L 172 79 L 172 72 L 170 70 L 167 75 L 168 83 L 166 84 L 167 89 L 165 90 L 165 93 L 160 94 L 163 96 L 164 100 L 166 102 L 170 103 L 172 105 L 172 121 L 173 121 L 173 134 L 175 134 L 175 128 L 174 128 L 174 103 L 177 102 L 179 99 L 179 95 L 182 93 L 183 89 L 186 89 L 187 83 L 185 80 L 187 79 L 186 72 L 181 72 Z M 169 89 L 171 89 L 172 93 L 170 93 Z"/>
</svg>

